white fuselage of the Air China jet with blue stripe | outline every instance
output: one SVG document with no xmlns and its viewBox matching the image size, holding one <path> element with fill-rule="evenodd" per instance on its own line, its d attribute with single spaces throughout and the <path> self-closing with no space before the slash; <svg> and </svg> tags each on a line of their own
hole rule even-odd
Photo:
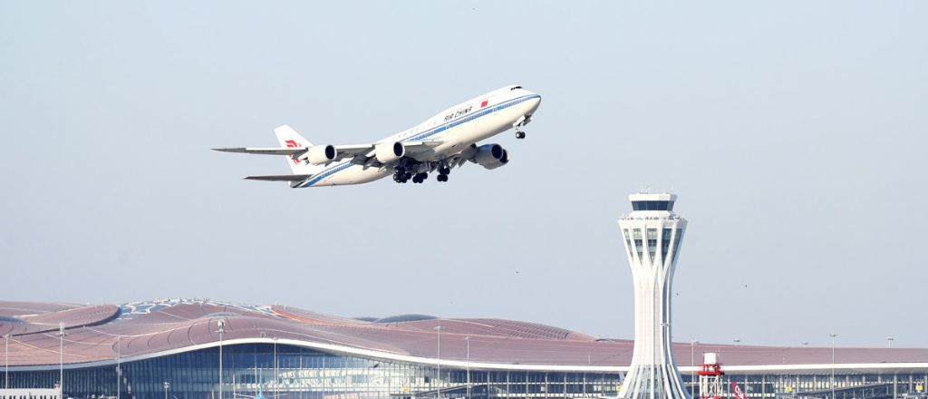
<svg viewBox="0 0 928 399">
<path fill-rule="evenodd" d="M 541 97 L 515 87 L 506 86 L 471 98 L 378 143 L 437 141 L 441 144 L 432 150 L 410 157 L 416 161 L 442 161 L 452 157 L 472 144 L 513 128 L 535 112 Z M 359 165 L 350 160 L 332 162 L 293 187 L 356 185 L 391 174 L 390 168 Z"/>
</svg>

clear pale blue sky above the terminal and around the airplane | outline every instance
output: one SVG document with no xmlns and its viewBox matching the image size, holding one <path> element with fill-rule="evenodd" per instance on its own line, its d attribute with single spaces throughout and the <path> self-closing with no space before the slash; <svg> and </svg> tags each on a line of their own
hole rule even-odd
<svg viewBox="0 0 928 399">
<path fill-rule="evenodd" d="M 209 297 L 630 338 L 615 221 L 673 189 L 678 341 L 928 345 L 928 4 L 3 2 L 5 300 Z M 372 141 L 518 83 L 512 161 L 293 190 L 210 151 Z"/>
</svg>

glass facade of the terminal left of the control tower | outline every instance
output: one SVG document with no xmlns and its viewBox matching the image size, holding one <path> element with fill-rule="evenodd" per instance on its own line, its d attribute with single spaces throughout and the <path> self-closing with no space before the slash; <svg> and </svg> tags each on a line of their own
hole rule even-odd
<svg viewBox="0 0 928 399">
<path fill-rule="evenodd" d="M 275 348 L 276 346 L 276 348 Z M 223 397 L 367 399 L 434 397 L 614 396 L 620 374 L 470 370 L 393 363 L 326 354 L 289 345 L 240 344 L 223 348 Z M 64 394 L 72 398 L 116 396 L 115 366 L 65 370 Z M 124 399 L 219 399 L 219 349 L 211 348 L 122 363 Z M 54 386 L 58 370 L 11 371 L 10 388 Z M 169 382 L 166 395 L 164 382 Z"/>
</svg>

